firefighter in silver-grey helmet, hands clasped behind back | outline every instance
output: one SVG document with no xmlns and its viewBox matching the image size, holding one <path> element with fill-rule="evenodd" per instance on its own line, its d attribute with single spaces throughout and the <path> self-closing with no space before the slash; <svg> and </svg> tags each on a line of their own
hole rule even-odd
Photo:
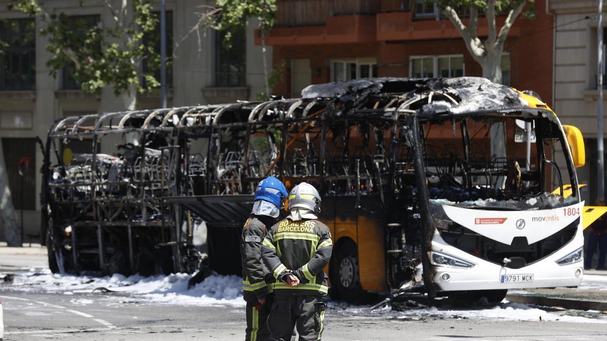
<svg viewBox="0 0 607 341">
<path fill-rule="evenodd" d="M 263 240 L 263 260 L 274 275 L 274 302 L 268 317 L 272 340 L 320 340 L 325 318 L 327 275 L 333 242 L 331 232 L 317 219 L 320 195 L 308 183 L 289 194 L 291 214 L 276 223 Z"/>
</svg>

